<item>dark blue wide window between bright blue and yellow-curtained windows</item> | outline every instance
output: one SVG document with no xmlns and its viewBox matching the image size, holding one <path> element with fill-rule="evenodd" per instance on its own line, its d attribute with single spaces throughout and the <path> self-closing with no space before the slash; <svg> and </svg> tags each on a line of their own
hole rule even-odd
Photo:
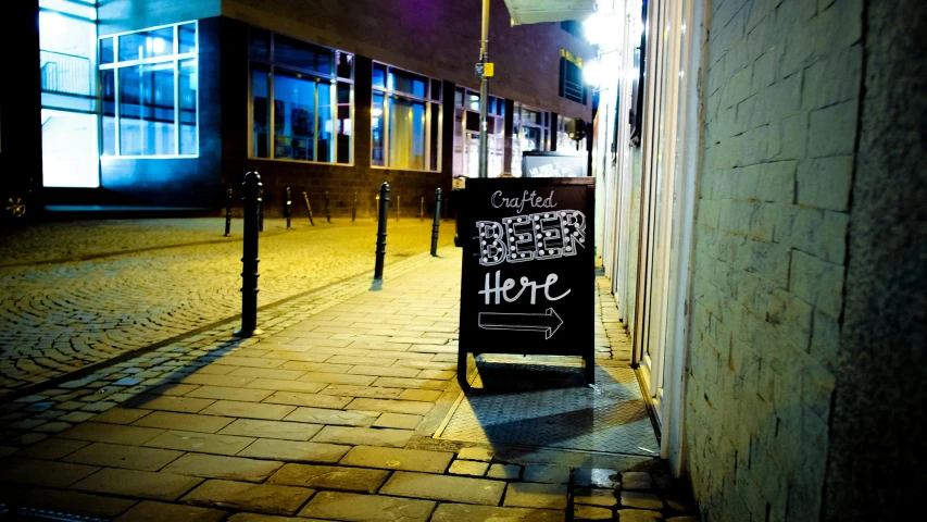
<svg viewBox="0 0 927 522">
<path fill-rule="evenodd" d="M 353 162 L 354 55 L 251 28 L 250 157 Z"/>
</svg>

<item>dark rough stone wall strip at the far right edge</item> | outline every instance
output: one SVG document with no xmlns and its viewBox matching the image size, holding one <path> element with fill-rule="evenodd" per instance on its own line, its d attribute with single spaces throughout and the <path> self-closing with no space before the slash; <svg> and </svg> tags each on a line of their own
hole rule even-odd
<svg viewBox="0 0 927 522">
<path fill-rule="evenodd" d="M 904 520 L 927 487 L 927 4 L 870 2 L 823 520 Z"/>
</svg>

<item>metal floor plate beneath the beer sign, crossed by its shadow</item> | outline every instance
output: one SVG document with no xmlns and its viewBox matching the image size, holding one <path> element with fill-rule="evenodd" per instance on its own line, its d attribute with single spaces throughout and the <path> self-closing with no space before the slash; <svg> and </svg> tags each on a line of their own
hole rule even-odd
<svg viewBox="0 0 927 522">
<path fill-rule="evenodd" d="M 590 387 L 575 364 L 502 360 L 511 358 L 480 363 L 473 387 L 461 394 L 435 438 L 659 453 L 634 370 L 596 366 L 597 384 Z"/>
</svg>

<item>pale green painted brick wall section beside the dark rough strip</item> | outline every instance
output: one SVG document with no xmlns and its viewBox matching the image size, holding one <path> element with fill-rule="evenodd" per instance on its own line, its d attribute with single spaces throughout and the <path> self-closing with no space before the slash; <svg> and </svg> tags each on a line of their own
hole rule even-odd
<svg viewBox="0 0 927 522">
<path fill-rule="evenodd" d="M 711 2 L 687 389 L 706 520 L 817 520 L 862 0 Z"/>
</svg>

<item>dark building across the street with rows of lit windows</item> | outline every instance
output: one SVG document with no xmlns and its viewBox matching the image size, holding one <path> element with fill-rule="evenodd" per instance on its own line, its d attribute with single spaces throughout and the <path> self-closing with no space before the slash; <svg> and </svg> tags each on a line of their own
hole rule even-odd
<svg viewBox="0 0 927 522">
<path fill-rule="evenodd" d="M 52 14 L 75 16 L 55 11 L 51 3 L 38 4 L 39 25 L 47 29 L 46 35 L 55 28 Z M 99 99 L 90 100 L 91 107 L 82 111 L 101 116 L 101 154 L 98 165 L 87 167 L 87 179 L 82 183 L 99 189 L 68 189 L 66 176 L 62 182 L 62 176 L 46 173 L 46 195 L 54 202 L 107 199 L 103 195 L 108 195 L 138 204 L 217 209 L 224 203 L 225 189 L 239 186 L 243 174 L 253 170 L 263 176 L 267 215 L 283 212 L 285 186 L 292 187 L 298 199 L 302 199 L 302 190 L 308 191 L 314 208 L 324 207 L 323 198 L 328 192 L 336 215 L 350 214 L 356 194 L 359 214 L 373 215 L 374 195 L 381 182 L 392 186 L 393 207 L 399 196 L 411 214 L 417 212 L 419 198 L 425 197 L 430 208 L 436 188 L 449 190 L 454 175 L 471 174 L 466 158 L 474 156 L 469 144 L 478 135 L 473 124 L 479 100 L 472 97 L 479 87 L 479 78 L 473 72 L 479 50 L 478 3 L 116 0 L 97 2 L 92 13 L 80 16 L 96 26 L 98 40 L 90 42 L 86 52 L 89 67 L 77 65 L 92 71 L 92 75 L 99 74 L 88 78 L 90 98 Z M 172 30 L 176 30 L 179 41 L 178 47 L 173 47 L 173 57 Z M 184 47 L 187 33 L 196 35 L 196 47 Z M 271 51 L 266 57 L 253 54 L 255 38 L 265 37 L 279 42 L 272 47 L 279 60 L 284 60 L 281 49 L 286 41 L 287 51 L 292 54 L 287 57 L 288 62 L 274 63 Z M 193 37 L 189 38 L 192 41 Z M 42 40 L 45 47 L 54 45 L 50 38 Z M 133 47 L 136 45 L 139 47 Z M 58 63 L 51 63 L 52 59 L 42 62 L 42 110 L 51 111 L 51 123 L 58 121 L 57 111 L 64 110 L 60 107 L 61 97 L 76 98 L 67 90 L 72 88 L 60 80 L 59 71 L 67 60 L 61 57 L 80 54 L 72 49 L 80 46 L 59 47 L 43 49 L 49 55 L 59 57 Z M 316 52 L 330 54 L 325 60 L 349 60 L 349 77 L 342 77 L 340 69 L 336 74 L 334 62 L 320 65 L 324 71 L 306 65 L 304 59 Z M 560 24 L 512 27 L 504 4 L 494 2 L 490 30 L 490 58 L 496 63 L 496 76 L 490 83 L 490 115 L 494 119 L 490 123 L 494 126 L 490 134 L 496 160 L 490 162 L 491 175 L 517 170 L 522 150 L 555 150 L 558 138 L 563 144 L 563 136 L 558 135 L 564 134 L 567 121 L 591 120 L 591 92 L 584 90 L 585 102 L 559 95 L 564 55 L 575 57 L 574 61 L 581 64 L 582 59 L 592 57 L 592 50 Z M 171 60 L 178 64 L 174 72 Z M 405 79 L 438 80 L 429 87 L 427 99 L 413 92 L 386 95 L 386 105 L 392 111 L 408 111 L 410 117 L 415 114 L 415 122 L 409 124 L 409 133 L 413 134 L 408 139 L 397 138 L 398 128 L 405 125 L 394 121 L 397 115 L 390 120 L 387 113 L 378 120 L 377 111 L 383 112 L 386 105 L 373 107 L 380 91 L 372 88 L 372 73 L 380 65 L 392 67 L 390 71 L 400 72 Z M 270 87 L 258 87 L 253 75 L 259 70 L 266 71 L 267 78 L 286 77 L 286 88 L 292 87 L 292 92 L 283 92 L 283 79 L 267 79 Z M 192 87 L 187 85 L 190 78 L 195 78 Z M 313 79 L 315 86 L 311 85 Z M 171 92 L 171 82 L 176 94 Z M 136 88 L 138 92 L 133 91 Z M 271 91 L 258 92 L 261 88 Z M 389 86 L 383 88 L 388 90 Z M 314 95 L 316 90 L 318 94 Z M 58 98 L 52 99 L 52 95 Z M 323 99 L 323 95 L 331 98 Z M 168 98 L 173 100 L 175 96 L 174 107 L 168 107 Z M 427 119 L 429 128 L 417 126 L 419 105 L 431 105 L 425 111 L 427 115 L 421 116 Z M 329 109 L 330 114 L 326 112 Z M 540 119 L 537 140 L 519 134 L 518 115 L 523 109 Z M 255 117 L 270 120 L 268 112 L 273 123 L 268 122 L 270 128 L 255 137 Z M 471 114 L 466 125 L 462 114 Z M 314 122 L 306 124 L 302 121 L 306 116 Z M 455 122 L 455 116 L 461 121 Z M 528 122 L 521 123 L 526 126 Z M 53 128 L 43 123 L 46 141 L 52 146 L 62 141 L 60 136 L 51 135 L 49 130 Z M 422 141 L 419 130 L 425 136 Z M 396 151 L 389 148 L 389 141 L 374 142 L 388 139 L 383 136 L 393 138 L 393 147 L 411 141 L 412 158 L 390 160 Z M 172 139 L 177 145 L 171 144 Z M 267 144 L 259 149 L 255 139 L 266 139 Z M 185 145 L 188 141 L 192 145 Z M 336 141 L 340 144 L 339 158 L 323 159 L 321 149 L 334 151 Z M 423 145 L 425 154 L 419 151 Z M 54 153 L 47 150 L 45 156 Z M 379 156 L 386 159 L 375 159 Z M 423 156 L 430 158 L 429 165 L 419 161 Z M 47 171 L 51 164 L 47 162 Z M 98 179 L 93 177 L 96 172 Z"/>
</svg>

